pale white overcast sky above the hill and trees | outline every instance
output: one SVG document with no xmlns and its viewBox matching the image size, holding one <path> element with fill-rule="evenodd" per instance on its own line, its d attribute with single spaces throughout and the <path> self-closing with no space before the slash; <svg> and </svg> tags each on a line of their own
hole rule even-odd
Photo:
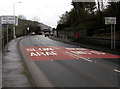
<svg viewBox="0 0 120 89">
<path fill-rule="evenodd" d="M 72 0 L 1 0 L 0 15 L 13 15 L 13 4 L 16 3 L 16 16 L 24 15 L 29 20 L 39 17 L 39 22 L 56 27 L 59 16 L 73 8 L 71 2 Z"/>
</svg>

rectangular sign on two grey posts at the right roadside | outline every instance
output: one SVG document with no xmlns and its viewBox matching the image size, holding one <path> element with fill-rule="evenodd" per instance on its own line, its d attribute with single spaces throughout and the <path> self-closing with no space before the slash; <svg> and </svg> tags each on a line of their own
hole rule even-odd
<svg viewBox="0 0 120 89">
<path fill-rule="evenodd" d="M 116 17 L 105 17 L 105 24 L 111 25 L 111 49 L 115 49 L 115 24 Z"/>
</svg>

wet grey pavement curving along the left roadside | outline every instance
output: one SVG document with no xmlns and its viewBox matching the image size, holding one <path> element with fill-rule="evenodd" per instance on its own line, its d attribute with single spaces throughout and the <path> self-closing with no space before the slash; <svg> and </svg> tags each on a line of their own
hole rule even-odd
<svg viewBox="0 0 120 89">
<path fill-rule="evenodd" d="M 23 59 L 17 47 L 20 39 L 21 38 L 10 41 L 4 50 L 2 66 L 3 87 L 31 87 L 26 75 Z"/>
</svg>

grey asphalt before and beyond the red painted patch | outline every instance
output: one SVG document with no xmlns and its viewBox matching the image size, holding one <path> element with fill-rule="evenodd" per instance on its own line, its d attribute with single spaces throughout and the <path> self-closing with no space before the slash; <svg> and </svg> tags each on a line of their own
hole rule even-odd
<svg viewBox="0 0 120 89">
<path fill-rule="evenodd" d="M 28 36 L 21 40 L 23 47 L 70 47 L 80 48 L 80 46 L 70 45 L 51 40 L 48 37 L 34 35 Z M 62 56 L 61 56 L 62 59 Z M 116 59 L 108 59 L 116 60 Z M 48 60 L 48 61 L 31 61 L 42 72 L 42 75 L 54 87 L 118 87 L 119 86 L 119 69 L 118 64 L 101 58 L 70 59 L 70 60 Z M 32 67 L 31 67 L 32 68 Z M 32 70 L 37 72 L 36 70 Z M 46 87 L 42 75 L 39 86 Z M 37 76 L 36 76 L 37 77 Z M 37 79 L 37 78 L 36 78 Z M 45 80 L 46 81 L 46 80 Z"/>
</svg>

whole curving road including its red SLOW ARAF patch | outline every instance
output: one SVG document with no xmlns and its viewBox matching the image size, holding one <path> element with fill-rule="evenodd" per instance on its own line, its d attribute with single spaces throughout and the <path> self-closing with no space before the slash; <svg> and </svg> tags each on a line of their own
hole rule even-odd
<svg viewBox="0 0 120 89">
<path fill-rule="evenodd" d="M 94 53 L 95 50 L 92 49 L 84 49 L 39 35 L 26 37 L 20 44 L 23 54 L 27 56 L 27 62 L 34 63 L 37 67 L 30 69 L 35 81 L 41 87 L 118 87 L 119 85 L 118 65 L 108 61 L 116 60 L 117 55 Z M 82 51 L 84 53 L 81 53 Z"/>
</svg>

